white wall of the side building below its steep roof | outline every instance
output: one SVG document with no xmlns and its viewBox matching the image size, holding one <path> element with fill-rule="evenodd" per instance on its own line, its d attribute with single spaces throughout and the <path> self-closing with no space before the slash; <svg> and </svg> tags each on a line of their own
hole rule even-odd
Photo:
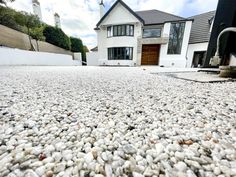
<svg viewBox="0 0 236 177">
<path fill-rule="evenodd" d="M 192 67 L 194 52 L 207 51 L 207 47 L 208 42 L 188 45 L 187 68 Z"/>
</svg>

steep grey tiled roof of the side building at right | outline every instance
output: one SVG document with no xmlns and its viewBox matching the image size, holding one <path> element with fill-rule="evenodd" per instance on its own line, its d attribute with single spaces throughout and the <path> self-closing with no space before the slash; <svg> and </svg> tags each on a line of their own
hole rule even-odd
<svg viewBox="0 0 236 177">
<path fill-rule="evenodd" d="M 189 17 L 191 19 L 194 19 L 189 39 L 190 44 L 203 43 L 209 41 L 210 28 L 214 16 L 215 16 L 215 11 L 210 11 Z"/>
</svg>

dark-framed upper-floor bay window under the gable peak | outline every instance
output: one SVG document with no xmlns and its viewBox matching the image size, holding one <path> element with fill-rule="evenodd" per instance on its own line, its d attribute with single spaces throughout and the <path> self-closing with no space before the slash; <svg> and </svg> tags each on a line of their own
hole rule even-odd
<svg viewBox="0 0 236 177">
<path fill-rule="evenodd" d="M 107 37 L 134 36 L 134 25 L 116 25 L 107 27 Z"/>
</svg>

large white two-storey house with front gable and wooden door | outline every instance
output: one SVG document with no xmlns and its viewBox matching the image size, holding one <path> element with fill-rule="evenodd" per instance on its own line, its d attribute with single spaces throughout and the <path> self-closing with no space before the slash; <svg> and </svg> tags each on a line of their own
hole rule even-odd
<svg viewBox="0 0 236 177">
<path fill-rule="evenodd" d="M 192 23 L 158 10 L 134 12 L 117 0 L 95 28 L 99 65 L 186 67 Z"/>
</svg>

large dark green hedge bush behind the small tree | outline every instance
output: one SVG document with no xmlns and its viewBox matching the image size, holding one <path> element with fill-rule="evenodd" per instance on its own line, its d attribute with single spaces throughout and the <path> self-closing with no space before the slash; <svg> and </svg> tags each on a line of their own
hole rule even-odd
<svg viewBox="0 0 236 177">
<path fill-rule="evenodd" d="M 43 34 L 46 38 L 46 42 L 66 50 L 71 49 L 70 38 L 60 28 L 46 26 Z"/>
</svg>

